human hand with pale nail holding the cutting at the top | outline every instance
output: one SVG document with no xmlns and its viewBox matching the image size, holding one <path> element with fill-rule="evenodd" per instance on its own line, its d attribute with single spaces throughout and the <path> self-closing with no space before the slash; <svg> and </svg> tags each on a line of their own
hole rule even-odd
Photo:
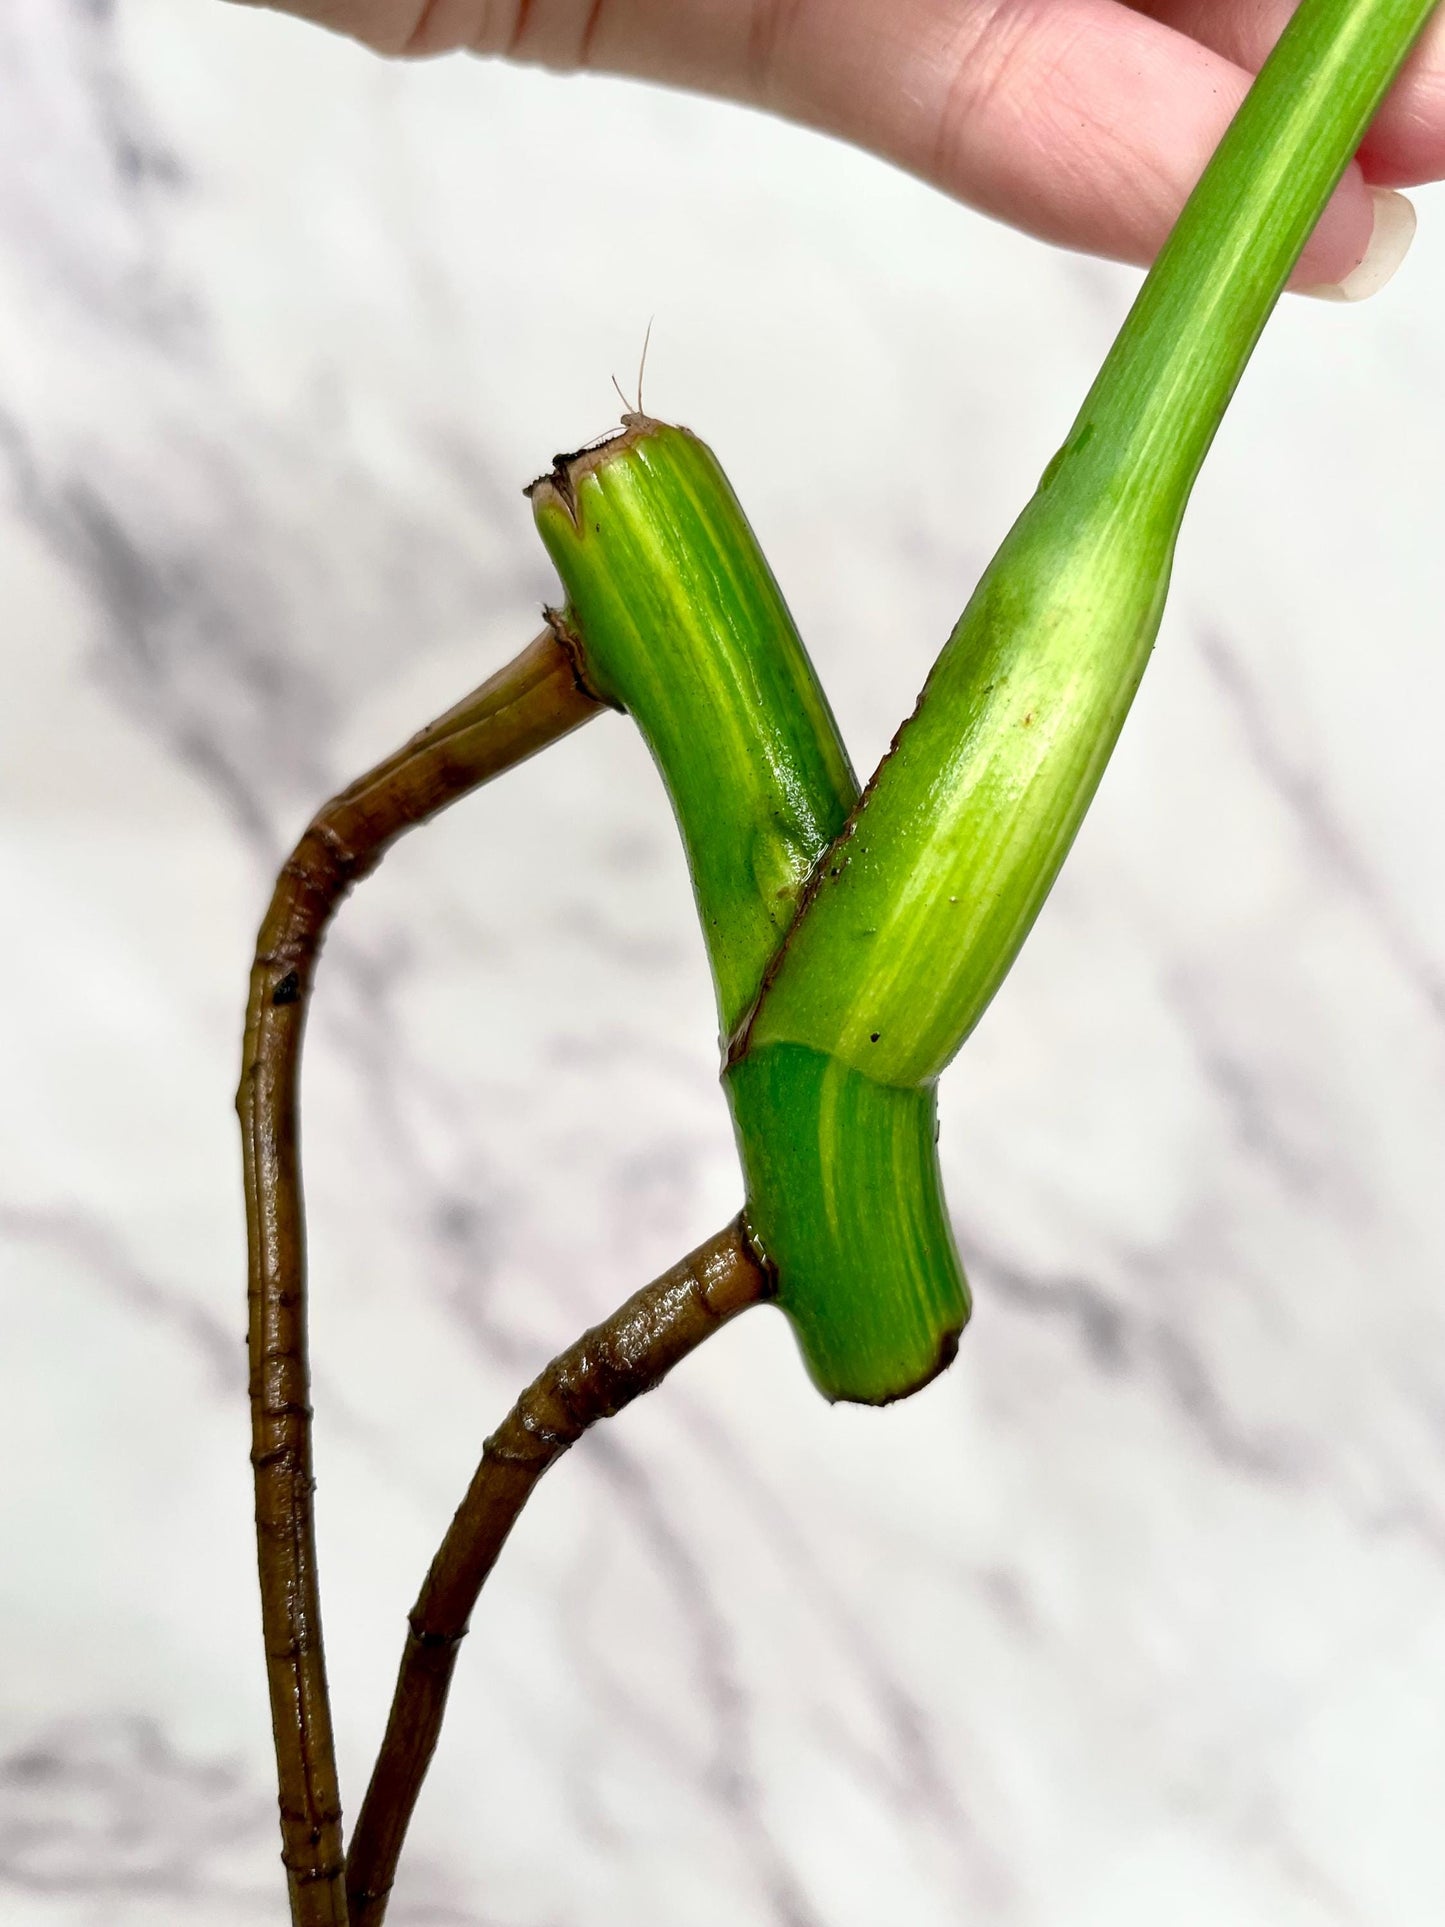
<svg viewBox="0 0 1445 1927">
<path fill-rule="evenodd" d="M 1293 0 L 277 0 L 383 54 L 459 48 L 769 108 L 1064 247 L 1148 262 Z M 1295 270 L 1358 301 L 1405 258 L 1393 189 L 1445 175 L 1445 12 Z"/>
</svg>

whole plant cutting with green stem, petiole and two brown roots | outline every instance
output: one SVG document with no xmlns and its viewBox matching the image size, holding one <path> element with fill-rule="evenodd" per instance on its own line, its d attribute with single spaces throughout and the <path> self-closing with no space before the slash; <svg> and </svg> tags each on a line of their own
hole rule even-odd
<svg viewBox="0 0 1445 1927">
<path fill-rule="evenodd" d="M 566 605 L 328 805 L 281 873 L 241 1083 L 252 1457 L 295 1921 L 380 1921 L 466 1615 L 536 1478 L 724 1318 L 775 1299 L 828 1397 L 952 1357 L 967 1293 L 934 1087 L 1058 875 L 1158 628 L 1198 466 L 1426 0 L 1306 0 L 1222 143 L 915 715 L 857 794 L 717 462 L 645 416 L 534 513 Z M 324 927 L 405 829 L 622 707 L 669 784 L 719 992 L 740 1220 L 565 1353 L 493 1434 L 412 1613 L 343 1850 L 310 1517 L 297 1066 Z"/>
</svg>

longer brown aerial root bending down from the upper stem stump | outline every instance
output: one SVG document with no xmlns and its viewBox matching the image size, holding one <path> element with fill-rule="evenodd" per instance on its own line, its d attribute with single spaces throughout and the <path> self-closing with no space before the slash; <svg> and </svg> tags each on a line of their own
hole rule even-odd
<svg viewBox="0 0 1445 1927">
<path fill-rule="evenodd" d="M 347 1923 L 316 1582 L 297 1112 L 316 954 L 347 890 L 397 836 L 557 742 L 599 707 L 557 638 L 539 636 L 316 815 L 277 877 L 256 938 L 237 1110 L 250 1260 L 256 1545 L 293 1927 Z"/>
</svg>

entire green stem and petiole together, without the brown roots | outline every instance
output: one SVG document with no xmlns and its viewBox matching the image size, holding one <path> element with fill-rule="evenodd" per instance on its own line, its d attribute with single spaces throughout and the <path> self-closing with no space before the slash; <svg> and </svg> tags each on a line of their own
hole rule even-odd
<svg viewBox="0 0 1445 1927">
<path fill-rule="evenodd" d="M 711 455 L 630 418 L 534 491 L 588 674 L 672 794 L 748 1222 L 828 1397 L 898 1397 L 952 1357 L 934 1081 L 1073 842 L 1198 468 L 1432 6 L 1302 0 L 846 825 L 832 717 Z"/>
</svg>

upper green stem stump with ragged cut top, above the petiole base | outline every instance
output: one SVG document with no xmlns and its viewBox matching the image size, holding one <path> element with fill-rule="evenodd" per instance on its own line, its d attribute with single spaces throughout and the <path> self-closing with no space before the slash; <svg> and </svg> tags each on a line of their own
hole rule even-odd
<svg viewBox="0 0 1445 1927">
<path fill-rule="evenodd" d="M 703 441 L 632 414 L 559 455 L 530 495 L 588 680 L 626 709 L 667 784 L 728 1035 L 857 798 L 848 752 Z"/>
</svg>

